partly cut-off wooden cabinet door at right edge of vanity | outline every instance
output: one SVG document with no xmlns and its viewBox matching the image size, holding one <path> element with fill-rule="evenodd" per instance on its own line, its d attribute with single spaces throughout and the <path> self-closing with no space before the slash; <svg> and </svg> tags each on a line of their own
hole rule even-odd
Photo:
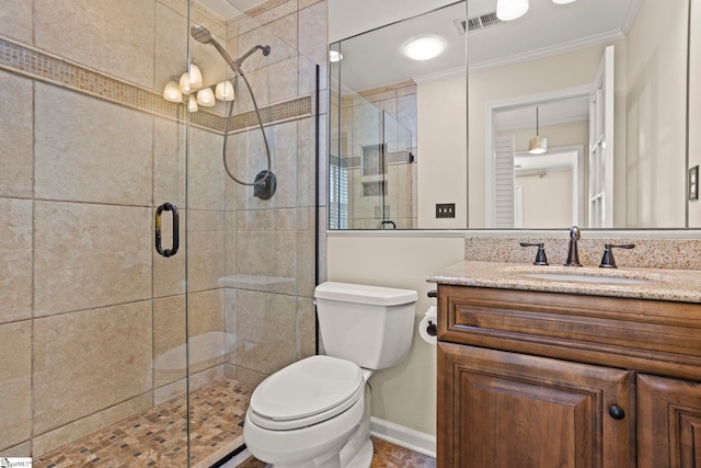
<svg viewBox="0 0 701 468">
<path fill-rule="evenodd" d="M 701 467 L 701 384 L 637 376 L 637 466 Z"/>
</svg>

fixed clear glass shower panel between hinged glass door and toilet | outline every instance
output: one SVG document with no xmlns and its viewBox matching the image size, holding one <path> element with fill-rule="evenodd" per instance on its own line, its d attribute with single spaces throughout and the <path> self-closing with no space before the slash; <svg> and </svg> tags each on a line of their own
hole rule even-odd
<svg viewBox="0 0 701 468">
<path fill-rule="evenodd" d="M 253 388 L 315 351 L 321 72 L 289 33 L 324 24 L 326 10 L 292 3 L 265 2 L 253 18 L 223 0 L 192 2 L 189 58 L 203 77 L 187 98 L 197 103 L 186 185 L 193 466 L 235 453 Z M 325 62 L 319 38 L 308 53 Z M 275 190 L 255 184 L 268 172 Z"/>
</svg>

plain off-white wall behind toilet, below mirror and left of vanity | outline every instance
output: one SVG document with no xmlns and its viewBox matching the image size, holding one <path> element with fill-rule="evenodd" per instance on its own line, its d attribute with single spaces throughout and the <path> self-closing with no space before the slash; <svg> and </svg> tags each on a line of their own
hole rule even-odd
<svg viewBox="0 0 701 468">
<path fill-rule="evenodd" d="M 436 346 L 418 336 L 418 321 L 436 299 L 426 294 L 436 285 L 426 276 L 464 258 L 464 236 L 330 232 L 327 279 L 401 287 L 418 292 L 414 341 L 400 365 L 377 372 L 372 415 L 425 434 L 436 434 Z"/>
</svg>

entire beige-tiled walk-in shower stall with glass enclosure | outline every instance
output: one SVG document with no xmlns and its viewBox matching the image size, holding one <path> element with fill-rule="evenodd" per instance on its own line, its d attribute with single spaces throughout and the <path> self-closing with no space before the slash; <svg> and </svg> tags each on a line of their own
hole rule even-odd
<svg viewBox="0 0 701 468">
<path fill-rule="evenodd" d="M 325 9 L 3 0 L 0 457 L 209 467 L 314 354 Z"/>
</svg>

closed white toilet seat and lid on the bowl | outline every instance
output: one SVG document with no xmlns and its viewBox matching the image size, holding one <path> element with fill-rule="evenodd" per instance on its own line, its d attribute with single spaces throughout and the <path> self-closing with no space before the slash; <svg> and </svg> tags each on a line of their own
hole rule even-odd
<svg viewBox="0 0 701 468">
<path fill-rule="evenodd" d="M 349 361 L 311 356 L 273 374 L 253 391 L 248 418 L 273 431 L 318 424 L 363 396 L 363 369 Z"/>
</svg>

